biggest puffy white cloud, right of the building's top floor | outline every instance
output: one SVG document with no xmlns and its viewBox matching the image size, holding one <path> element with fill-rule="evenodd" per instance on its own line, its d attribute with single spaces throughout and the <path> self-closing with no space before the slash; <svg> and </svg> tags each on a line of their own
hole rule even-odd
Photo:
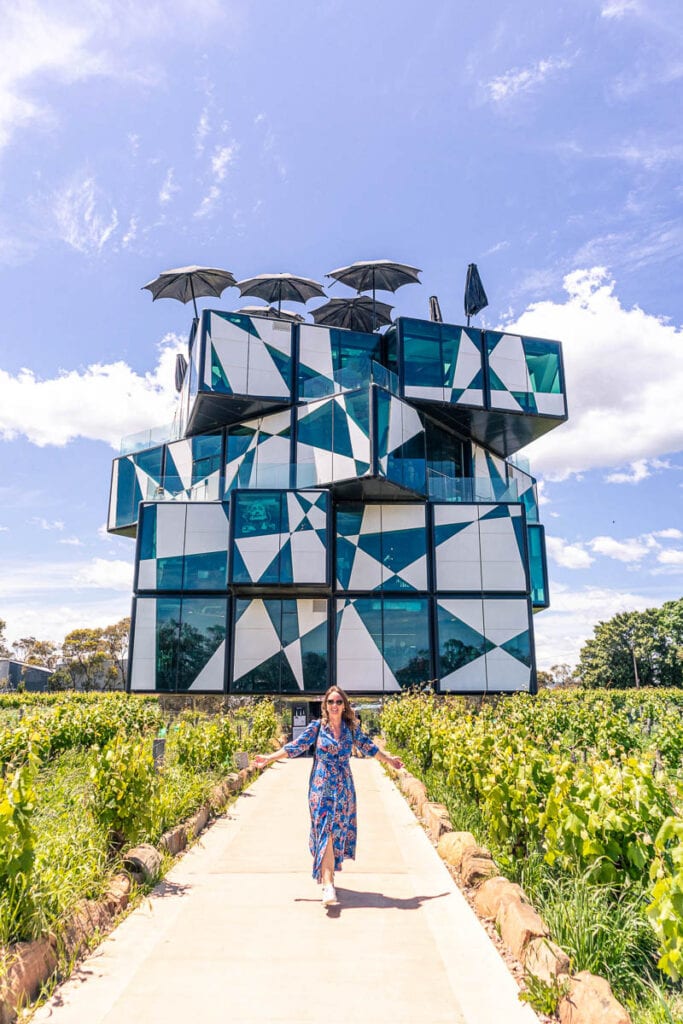
<svg viewBox="0 0 683 1024">
<path fill-rule="evenodd" d="M 561 480 L 683 449 L 683 331 L 624 308 L 603 267 L 574 270 L 564 288 L 565 302 L 533 303 L 505 325 L 562 342 L 569 420 L 529 445 L 535 469 Z"/>
</svg>

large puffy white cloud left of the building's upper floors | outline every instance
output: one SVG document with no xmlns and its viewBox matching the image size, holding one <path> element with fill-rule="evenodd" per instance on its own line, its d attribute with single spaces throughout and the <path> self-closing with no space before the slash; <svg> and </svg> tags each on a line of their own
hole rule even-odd
<svg viewBox="0 0 683 1024">
<path fill-rule="evenodd" d="M 125 362 L 93 364 L 40 380 L 33 371 L 0 370 L 0 438 L 26 436 L 34 444 L 63 445 L 76 437 L 118 447 L 121 437 L 169 423 L 177 408 L 175 355 L 186 343 L 169 334 L 157 366 L 143 376 Z"/>
</svg>

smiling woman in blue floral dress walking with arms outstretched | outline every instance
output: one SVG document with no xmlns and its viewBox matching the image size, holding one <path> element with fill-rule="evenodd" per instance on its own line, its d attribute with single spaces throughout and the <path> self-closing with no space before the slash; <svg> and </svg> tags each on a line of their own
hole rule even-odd
<svg viewBox="0 0 683 1024">
<path fill-rule="evenodd" d="M 360 731 L 348 697 L 339 686 L 331 686 L 323 697 L 322 718 L 274 754 L 259 754 L 255 758 L 256 765 L 264 768 L 283 758 L 299 757 L 314 746 L 308 786 L 308 846 L 313 858 L 313 878 L 323 883 L 324 906 L 337 902 L 335 871 L 341 870 L 346 858 L 355 857 L 355 786 L 349 764 L 354 744 L 366 757 L 377 758 L 392 768 L 402 767 L 399 758 L 384 754 Z"/>
</svg>

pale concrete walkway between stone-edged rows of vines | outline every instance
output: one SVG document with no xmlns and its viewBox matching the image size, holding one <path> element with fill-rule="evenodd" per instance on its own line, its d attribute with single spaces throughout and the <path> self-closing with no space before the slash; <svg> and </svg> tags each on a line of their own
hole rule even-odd
<svg viewBox="0 0 683 1024">
<path fill-rule="evenodd" d="M 538 1024 L 402 796 L 353 761 L 358 853 L 326 910 L 310 761 L 263 773 L 34 1017 L 51 1024 Z"/>
</svg>

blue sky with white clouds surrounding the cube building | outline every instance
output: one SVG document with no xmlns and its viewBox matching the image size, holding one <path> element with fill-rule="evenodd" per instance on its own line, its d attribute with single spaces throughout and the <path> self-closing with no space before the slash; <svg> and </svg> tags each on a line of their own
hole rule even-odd
<svg viewBox="0 0 683 1024">
<path fill-rule="evenodd" d="M 476 262 L 475 326 L 563 343 L 569 420 L 522 453 L 547 530 L 540 668 L 575 664 L 598 621 L 683 595 L 679 0 L 0 11 L 9 641 L 129 613 L 112 459 L 172 419 L 191 317 L 141 286 L 193 263 L 324 282 L 395 259 L 422 268 L 379 296 L 395 314 L 428 317 L 437 295 L 458 324 Z"/>
</svg>

